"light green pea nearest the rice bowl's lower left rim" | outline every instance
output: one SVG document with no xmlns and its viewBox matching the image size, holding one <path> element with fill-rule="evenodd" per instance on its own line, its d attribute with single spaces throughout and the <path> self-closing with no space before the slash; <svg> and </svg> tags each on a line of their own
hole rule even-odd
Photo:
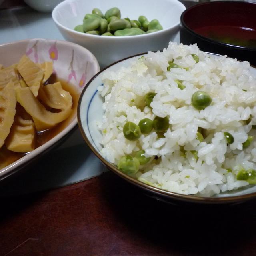
<svg viewBox="0 0 256 256">
<path fill-rule="evenodd" d="M 135 174 L 140 168 L 140 161 L 136 157 L 122 156 L 117 164 L 118 169 L 128 175 Z"/>
</svg>

